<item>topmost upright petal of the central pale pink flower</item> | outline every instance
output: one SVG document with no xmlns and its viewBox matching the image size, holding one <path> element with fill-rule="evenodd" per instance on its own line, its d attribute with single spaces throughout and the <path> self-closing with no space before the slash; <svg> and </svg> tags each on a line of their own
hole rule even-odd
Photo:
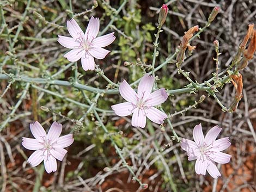
<svg viewBox="0 0 256 192">
<path fill-rule="evenodd" d="M 154 77 L 149 76 L 148 74 L 145 74 L 141 81 L 139 82 L 138 86 L 138 96 L 139 98 L 148 98 L 154 84 Z"/>
</svg>

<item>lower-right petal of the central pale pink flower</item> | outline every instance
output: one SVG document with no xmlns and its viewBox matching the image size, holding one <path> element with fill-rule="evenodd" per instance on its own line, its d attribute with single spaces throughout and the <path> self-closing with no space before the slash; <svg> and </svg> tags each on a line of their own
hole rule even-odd
<svg viewBox="0 0 256 192">
<path fill-rule="evenodd" d="M 157 124 L 162 124 L 163 120 L 167 118 L 167 115 L 161 110 L 155 108 L 155 107 L 150 107 L 148 109 L 145 109 L 145 113 L 151 121 L 157 123 Z"/>
</svg>

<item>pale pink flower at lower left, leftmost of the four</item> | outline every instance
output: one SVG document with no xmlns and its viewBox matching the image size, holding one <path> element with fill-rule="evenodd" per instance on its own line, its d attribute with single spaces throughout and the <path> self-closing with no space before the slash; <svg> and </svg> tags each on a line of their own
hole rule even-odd
<svg viewBox="0 0 256 192">
<path fill-rule="evenodd" d="M 31 166 L 39 165 L 44 160 L 45 170 L 48 174 L 57 170 L 57 160 L 63 160 L 66 152 L 64 148 L 73 142 L 73 134 L 59 137 L 62 132 L 62 124 L 53 122 L 47 135 L 38 121 L 30 124 L 31 133 L 35 139 L 22 138 L 23 147 L 35 150 L 28 158 Z"/>
</svg>

